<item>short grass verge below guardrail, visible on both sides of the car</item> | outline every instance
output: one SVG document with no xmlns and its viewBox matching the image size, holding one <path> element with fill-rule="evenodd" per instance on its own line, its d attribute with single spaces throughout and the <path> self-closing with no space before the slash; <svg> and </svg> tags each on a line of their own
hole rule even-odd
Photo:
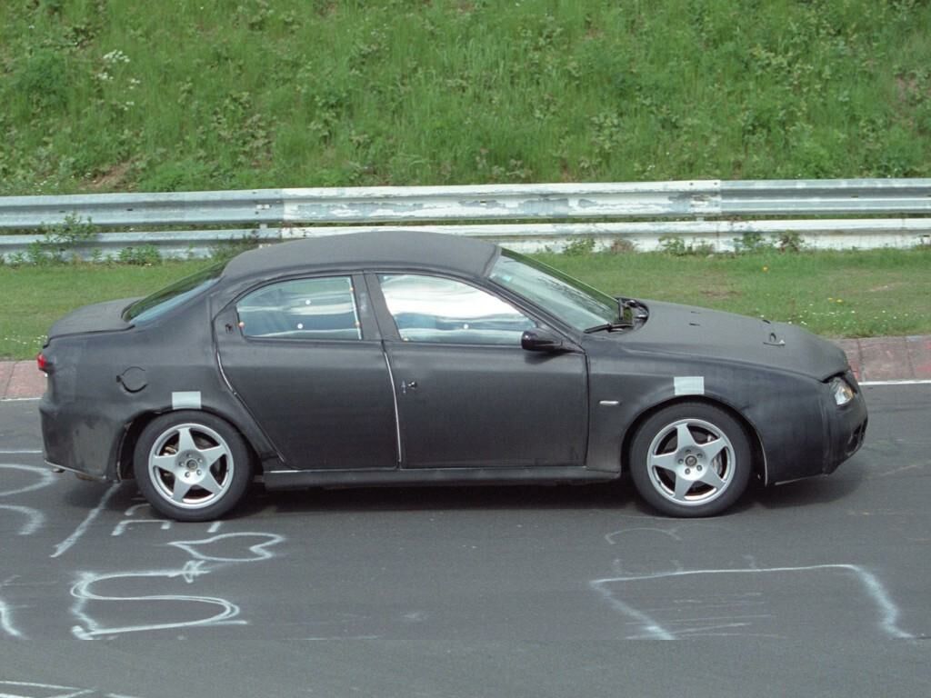
<svg viewBox="0 0 931 698">
<path fill-rule="evenodd" d="M 544 254 L 589 284 L 802 325 L 830 337 L 931 334 L 931 248 L 738 256 Z M 0 266 L 0 357 L 29 358 L 48 327 L 90 302 L 139 296 L 208 262 Z"/>
</svg>

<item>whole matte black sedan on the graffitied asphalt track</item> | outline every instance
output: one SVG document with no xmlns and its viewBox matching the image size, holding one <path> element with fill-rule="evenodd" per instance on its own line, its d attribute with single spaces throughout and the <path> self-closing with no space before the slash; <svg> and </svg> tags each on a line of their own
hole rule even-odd
<svg viewBox="0 0 931 698">
<path fill-rule="evenodd" d="M 62 318 L 38 357 L 47 463 L 135 477 L 168 517 L 266 488 L 600 482 L 708 516 L 751 476 L 830 473 L 867 411 L 789 325 L 612 298 L 419 232 L 262 248 Z"/>
</svg>

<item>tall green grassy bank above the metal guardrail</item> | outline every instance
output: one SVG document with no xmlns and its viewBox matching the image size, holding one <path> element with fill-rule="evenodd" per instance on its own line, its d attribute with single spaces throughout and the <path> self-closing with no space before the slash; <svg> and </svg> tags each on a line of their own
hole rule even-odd
<svg viewBox="0 0 931 698">
<path fill-rule="evenodd" d="M 0 195 L 931 174 L 922 0 L 9 0 Z"/>
</svg>

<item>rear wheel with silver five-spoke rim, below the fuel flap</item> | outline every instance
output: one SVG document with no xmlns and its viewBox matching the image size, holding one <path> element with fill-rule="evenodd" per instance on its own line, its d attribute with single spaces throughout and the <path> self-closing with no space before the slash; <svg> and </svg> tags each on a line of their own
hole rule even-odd
<svg viewBox="0 0 931 698">
<path fill-rule="evenodd" d="M 142 430 L 133 472 L 155 511 L 177 521 L 209 521 L 242 499 L 252 479 L 252 458 L 229 423 L 182 410 L 163 414 Z"/>
</svg>

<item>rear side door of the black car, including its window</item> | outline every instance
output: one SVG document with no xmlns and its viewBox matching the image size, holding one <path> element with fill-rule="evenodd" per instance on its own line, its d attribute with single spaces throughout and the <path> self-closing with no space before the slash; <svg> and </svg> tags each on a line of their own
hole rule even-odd
<svg viewBox="0 0 931 698">
<path fill-rule="evenodd" d="M 223 374 L 290 467 L 398 467 L 385 354 L 356 287 L 351 275 L 284 279 L 217 317 Z"/>
</svg>

